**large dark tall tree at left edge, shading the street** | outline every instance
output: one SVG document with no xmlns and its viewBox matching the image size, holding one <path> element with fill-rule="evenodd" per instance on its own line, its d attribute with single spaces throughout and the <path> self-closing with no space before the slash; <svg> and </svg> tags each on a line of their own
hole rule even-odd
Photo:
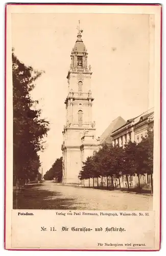
<svg viewBox="0 0 166 256">
<path fill-rule="evenodd" d="M 20 62 L 12 50 L 13 76 L 13 181 L 34 178 L 40 167 L 38 152 L 44 150 L 43 138 L 49 122 L 41 119 L 38 101 L 30 97 L 42 72 Z"/>
</svg>

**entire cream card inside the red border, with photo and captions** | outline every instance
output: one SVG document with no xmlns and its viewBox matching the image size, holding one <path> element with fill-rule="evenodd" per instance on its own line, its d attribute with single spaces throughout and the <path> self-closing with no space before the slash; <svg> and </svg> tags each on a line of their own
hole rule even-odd
<svg viewBox="0 0 166 256">
<path fill-rule="evenodd" d="M 8 6 L 11 248 L 158 248 L 161 7 L 100 7 Z"/>
</svg>

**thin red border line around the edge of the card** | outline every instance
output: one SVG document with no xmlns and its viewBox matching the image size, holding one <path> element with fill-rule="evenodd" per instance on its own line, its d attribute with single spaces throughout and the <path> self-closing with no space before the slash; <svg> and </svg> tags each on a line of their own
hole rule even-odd
<svg viewBox="0 0 166 256">
<path fill-rule="evenodd" d="M 160 230 L 159 230 L 159 249 L 158 250 L 97 250 L 97 249 L 8 249 L 6 248 L 6 87 L 7 87 L 7 76 L 6 76 L 6 71 L 7 71 L 7 61 L 6 61 L 6 54 L 7 54 L 7 47 L 6 47 L 6 42 L 7 42 L 7 6 L 9 5 L 109 5 L 109 6 L 161 6 L 161 19 L 160 19 Z M 18 3 L 18 4 L 6 4 L 5 6 L 5 193 L 4 193 L 4 248 L 6 250 L 10 251 L 159 251 L 161 248 L 161 152 L 162 152 L 162 140 L 161 140 L 161 125 L 162 125 L 162 5 L 160 4 L 87 4 L 87 3 L 59 3 L 59 4 L 53 4 L 53 3 L 40 3 L 40 4 L 23 4 L 23 3 Z"/>
</svg>

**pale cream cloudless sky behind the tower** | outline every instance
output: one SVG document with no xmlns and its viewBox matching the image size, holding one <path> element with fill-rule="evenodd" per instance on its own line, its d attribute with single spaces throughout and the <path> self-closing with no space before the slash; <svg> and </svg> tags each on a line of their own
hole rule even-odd
<svg viewBox="0 0 166 256">
<path fill-rule="evenodd" d="M 118 116 L 127 120 L 154 106 L 149 72 L 154 42 L 148 14 L 13 13 L 15 55 L 25 65 L 44 71 L 32 92 L 32 98 L 39 100 L 41 117 L 50 121 L 46 148 L 39 153 L 43 174 L 62 155 L 66 76 L 79 19 L 92 71 L 97 137 Z"/>
</svg>

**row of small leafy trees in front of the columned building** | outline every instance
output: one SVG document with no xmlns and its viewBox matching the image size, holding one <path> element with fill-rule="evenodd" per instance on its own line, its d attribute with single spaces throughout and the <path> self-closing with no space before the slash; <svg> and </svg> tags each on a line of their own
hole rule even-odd
<svg viewBox="0 0 166 256">
<path fill-rule="evenodd" d="M 148 131 L 148 136 L 138 144 L 130 140 L 124 147 L 118 144 L 102 146 L 94 156 L 88 157 L 83 162 L 79 179 L 101 178 L 103 180 L 103 177 L 106 177 L 107 187 L 108 180 L 111 180 L 114 188 L 114 179 L 120 181 L 120 177 L 125 176 L 129 188 L 129 177 L 137 175 L 140 187 L 140 175 L 146 173 L 151 175 L 153 190 L 153 131 Z"/>
</svg>

